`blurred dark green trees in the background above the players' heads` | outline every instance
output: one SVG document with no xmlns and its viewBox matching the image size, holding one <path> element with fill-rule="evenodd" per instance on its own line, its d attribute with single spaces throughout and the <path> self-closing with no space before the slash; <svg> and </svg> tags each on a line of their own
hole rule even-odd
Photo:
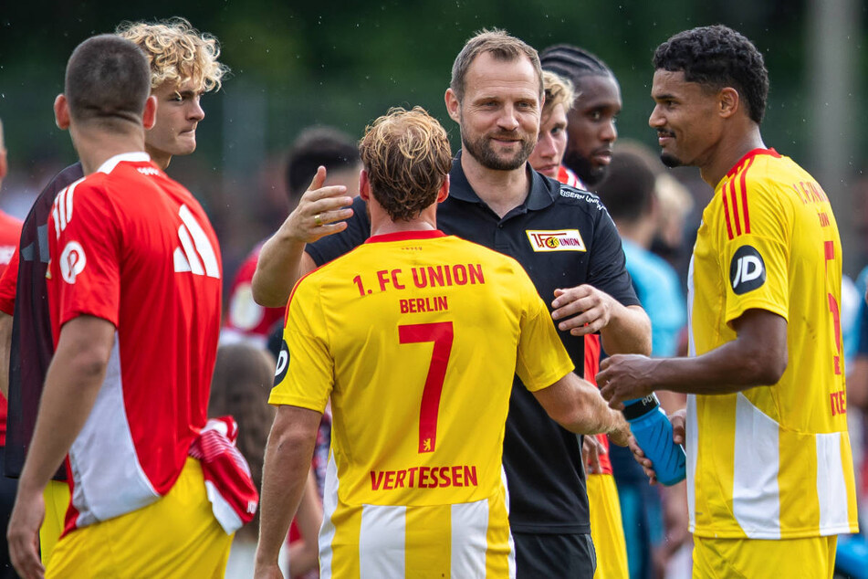
<svg viewBox="0 0 868 579">
<path fill-rule="evenodd" d="M 864 12 L 865 0 L 857 1 Z M 72 49 L 125 19 L 184 16 L 219 38 L 221 59 L 232 74 L 223 90 L 204 98 L 207 118 L 199 129 L 199 151 L 173 161 L 170 173 L 195 166 L 196 172 L 210 174 L 211 187 L 223 190 L 205 195 L 206 203 L 208 195 L 217 195 L 220 203 L 235 199 L 250 208 L 256 206 L 258 186 L 251 175 L 269 155 L 285 151 L 309 124 L 331 124 L 361 136 L 365 124 L 388 107 L 418 104 L 441 119 L 457 147 L 456 126 L 445 114 L 443 93 L 455 55 L 482 27 L 506 28 L 539 49 L 570 42 L 598 54 L 622 84 L 621 136 L 653 144 L 647 117 L 654 47 L 685 28 L 719 22 L 751 38 L 766 56 L 771 76 L 763 131 L 767 144 L 810 168 L 807 2 L 150 0 L 127 5 L 2 0 L 0 118 L 18 171 L 37 171 L 46 159 L 72 160 L 68 137 L 54 126 L 51 112 Z M 860 51 L 864 40 L 852 39 Z M 860 60 L 854 99 L 864 94 L 866 66 Z M 855 126 L 868 125 L 868 113 L 856 110 Z M 866 144 L 868 135 L 861 132 L 852 151 L 854 170 L 861 169 Z M 247 200 L 237 201 L 239 195 Z M 281 216 L 263 218 L 270 218 L 266 225 L 272 226 Z"/>
</svg>

